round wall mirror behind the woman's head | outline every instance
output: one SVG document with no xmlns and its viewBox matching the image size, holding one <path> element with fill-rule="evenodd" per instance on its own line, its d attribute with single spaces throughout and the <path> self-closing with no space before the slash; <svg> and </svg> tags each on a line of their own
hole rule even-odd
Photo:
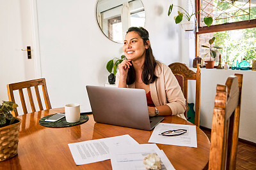
<svg viewBox="0 0 256 170">
<path fill-rule="evenodd" d="M 141 0 L 98 0 L 96 16 L 101 31 L 116 43 L 123 43 L 129 27 L 145 25 Z"/>
</svg>

